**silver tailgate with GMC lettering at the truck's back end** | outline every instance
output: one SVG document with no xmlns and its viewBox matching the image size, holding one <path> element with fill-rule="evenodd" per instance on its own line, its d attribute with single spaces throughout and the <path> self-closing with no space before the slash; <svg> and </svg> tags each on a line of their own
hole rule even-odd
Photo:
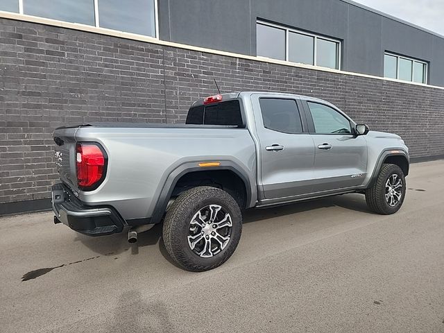
<svg viewBox="0 0 444 333">
<path fill-rule="evenodd" d="M 56 166 L 60 180 L 77 189 L 76 131 L 78 128 L 58 128 L 53 137 L 56 142 Z"/>
</svg>

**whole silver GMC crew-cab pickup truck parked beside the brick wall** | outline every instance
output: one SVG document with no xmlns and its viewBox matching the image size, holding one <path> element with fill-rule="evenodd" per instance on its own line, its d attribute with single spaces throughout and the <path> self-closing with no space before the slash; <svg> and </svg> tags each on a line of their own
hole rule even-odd
<svg viewBox="0 0 444 333">
<path fill-rule="evenodd" d="M 129 230 L 130 242 L 163 223 L 167 252 L 189 271 L 230 258 L 243 210 L 357 192 L 393 214 L 409 173 L 398 135 L 293 94 L 218 94 L 196 101 L 185 124 L 90 123 L 53 137 L 55 223 L 90 236 Z"/>
</svg>

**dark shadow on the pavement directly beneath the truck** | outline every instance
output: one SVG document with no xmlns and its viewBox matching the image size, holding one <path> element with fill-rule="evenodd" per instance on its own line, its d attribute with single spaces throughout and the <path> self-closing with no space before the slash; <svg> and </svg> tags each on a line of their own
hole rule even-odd
<svg viewBox="0 0 444 333">
<path fill-rule="evenodd" d="M 364 212 L 374 214 L 367 205 L 364 196 L 360 194 L 346 194 L 343 196 L 333 196 L 315 200 L 303 201 L 300 203 L 291 203 L 279 207 L 271 207 L 260 210 L 246 210 L 244 212 L 244 223 L 254 223 L 264 219 L 271 219 L 291 214 L 299 214 L 309 210 L 317 210 L 327 207 L 341 207 L 345 210 L 355 212 Z M 105 237 L 88 237 L 83 234 L 77 234 L 74 241 L 80 241 L 82 244 L 93 250 L 99 255 L 119 255 L 130 251 L 131 254 L 139 254 L 139 248 L 146 246 L 158 246 L 160 253 L 171 264 L 177 266 L 169 257 L 162 239 L 162 225 L 155 225 L 151 230 L 142 232 L 138 235 L 136 244 L 128 244 L 128 229 L 123 230 L 121 234 L 112 234 Z"/>
</svg>

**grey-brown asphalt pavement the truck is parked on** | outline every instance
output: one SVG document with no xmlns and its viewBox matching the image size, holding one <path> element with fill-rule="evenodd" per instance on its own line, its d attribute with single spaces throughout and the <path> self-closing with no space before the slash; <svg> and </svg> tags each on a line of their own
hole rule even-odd
<svg viewBox="0 0 444 333">
<path fill-rule="evenodd" d="M 443 171 L 413 164 L 391 216 L 359 194 L 247 212 L 205 273 L 174 266 L 157 227 L 130 246 L 3 217 L 0 332 L 444 332 Z"/>
</svg>

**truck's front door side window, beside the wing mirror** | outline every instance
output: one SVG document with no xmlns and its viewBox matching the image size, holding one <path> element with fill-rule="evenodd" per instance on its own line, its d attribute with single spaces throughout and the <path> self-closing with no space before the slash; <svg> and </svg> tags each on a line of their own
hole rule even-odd
<svg viewBox="0 0 444 333">
<path fill-rule="evenodd" d="M 307 102 L 318 134 L 351 134 L 350 121 L 330 106 Z"/>
</svg>

